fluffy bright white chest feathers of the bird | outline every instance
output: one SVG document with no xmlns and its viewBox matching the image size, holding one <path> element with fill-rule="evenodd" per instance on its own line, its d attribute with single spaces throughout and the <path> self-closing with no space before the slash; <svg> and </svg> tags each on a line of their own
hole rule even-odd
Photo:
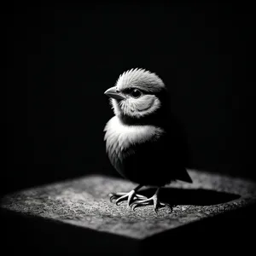
<svg viewBox="0 0 256 256">
<path fill-rule="evenodd" d="M 105 126 L 106 150 L 110 160 L 122 160 L 129 149 L 139 143 L 145 143 L 160 137 L 163 132 L 154 125 L 124 125 L 117 116 L 113 116 Z"/>
</svg>

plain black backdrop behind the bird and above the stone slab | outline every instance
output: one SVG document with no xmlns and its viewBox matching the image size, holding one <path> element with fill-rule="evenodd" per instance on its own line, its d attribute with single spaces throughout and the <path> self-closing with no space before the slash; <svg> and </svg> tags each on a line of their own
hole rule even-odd
<svg viewBox="0 0 256 256">
<path fill-rule="evenodd" d="M 172 92 L 191 168 L 254 178 L 252 5 L 22 1 L 2 11 L 3 192 L 115 175 L 103 143 L 113 115 L 103 92 L 132 67 L 159 74 Z"/>
</svg>

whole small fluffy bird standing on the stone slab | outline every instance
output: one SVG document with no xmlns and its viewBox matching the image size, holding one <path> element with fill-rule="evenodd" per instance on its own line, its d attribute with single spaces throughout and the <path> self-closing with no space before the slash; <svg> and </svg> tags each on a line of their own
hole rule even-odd
<svg viewBox="0 0 256 256">
<path fill-rule="evenodd" d="M 114 116 L 104 128 L 108 158 L 122 177 L 137 183 L 130 192 L 111 194 L 116 204 L 127 199 L 133 207 L 172 206 L 158 198 L 161 187 L 172 181 L 192 183 L 185 166 L 187 144 L 177 120 L 169 110 L 166 85 L 155 73 L 135 68 L 122 73 L 110 97 Z M 152 197 L 137 194 L 143 186 L 156 187 Z"/>
</svg>

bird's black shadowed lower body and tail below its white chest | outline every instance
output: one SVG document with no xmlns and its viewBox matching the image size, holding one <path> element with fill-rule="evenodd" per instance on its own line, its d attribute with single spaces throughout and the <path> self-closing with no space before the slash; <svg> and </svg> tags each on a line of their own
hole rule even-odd
<svg viewBox="0 0 256 256">
<path fill-rule="evenodd" d="M 191 183 L 180 140 L 177 132 L 169 129 L 156 139 L 133 145 L 134 153 L 124 160 L 121 174 L 145 185 L 162 186 L 177 179 Z"/>
</svg>

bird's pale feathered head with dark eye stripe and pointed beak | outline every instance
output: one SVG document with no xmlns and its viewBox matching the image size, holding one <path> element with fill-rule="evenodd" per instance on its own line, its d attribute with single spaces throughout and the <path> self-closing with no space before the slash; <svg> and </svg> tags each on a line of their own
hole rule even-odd
<svg viewBox="0 0 256 256">
<path fill-rule="evenodd" d="M 105 94 L 117 116 L 143 119 L 160 110 L 166 86 L 155 73 L 136 68 L 122 73 Z"/>
</svg>

